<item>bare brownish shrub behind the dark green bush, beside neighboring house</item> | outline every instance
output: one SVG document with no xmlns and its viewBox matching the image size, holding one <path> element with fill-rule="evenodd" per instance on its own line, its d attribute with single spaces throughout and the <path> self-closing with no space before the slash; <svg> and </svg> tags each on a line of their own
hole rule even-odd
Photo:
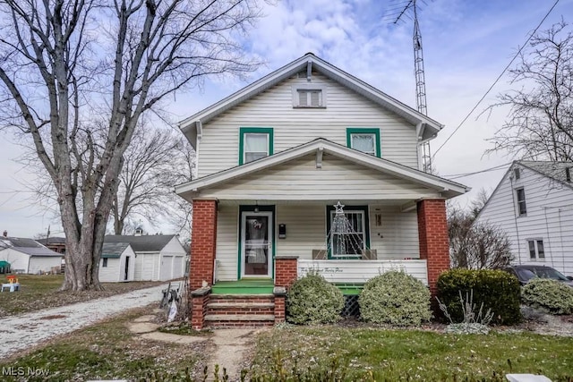
<svg viewBox="0 0 573 382">
<path fill-rule="evenodd" d="M 497 227 L 475 223 L 474 211 L 449 207 L 449 256 L 452 267 L 496 269 L 509 266 L 511 245 Z"/>
</svg>

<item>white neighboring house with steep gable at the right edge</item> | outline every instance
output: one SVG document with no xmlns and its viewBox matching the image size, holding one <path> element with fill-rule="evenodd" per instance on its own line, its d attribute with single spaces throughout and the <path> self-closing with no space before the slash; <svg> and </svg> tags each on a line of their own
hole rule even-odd
<svg viewBox="0 0 573 382">
<path fill-rule="evenodd" d="M 573 163 L 516 161 L 476 222 L 508 234 L 516 264 L 573 276 Z"/>
</svg>

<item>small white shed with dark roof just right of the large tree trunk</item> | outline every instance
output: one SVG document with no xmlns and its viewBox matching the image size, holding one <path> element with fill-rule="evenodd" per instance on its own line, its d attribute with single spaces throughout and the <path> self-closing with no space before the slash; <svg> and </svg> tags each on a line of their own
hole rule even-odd
<svg viewBox="0 0 573 382">
<path fill-rule="evenodd" d="M 99 259 L 99 281 L 133 281 L 134 275 L 135 252 L 129 242 L 104 242 Z"/>
</svg>

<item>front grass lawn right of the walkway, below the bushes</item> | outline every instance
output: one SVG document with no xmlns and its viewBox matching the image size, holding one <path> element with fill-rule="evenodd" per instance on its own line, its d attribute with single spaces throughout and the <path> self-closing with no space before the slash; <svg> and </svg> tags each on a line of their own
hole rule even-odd
<svg viewBox="0 0 573 382">
<path fill-rule="evenodd" d="M 281 327 L 261 334 L 254 352 L 253 369 L 263 375 L 291 375 L 296 365 L 299 372 L 311 368 L 320 376 L 338 367 L 336 374 L 349 381 L 506 381 L 502 376 L 509 372 L 573 381 L 571 337 Z"/>
</svg>

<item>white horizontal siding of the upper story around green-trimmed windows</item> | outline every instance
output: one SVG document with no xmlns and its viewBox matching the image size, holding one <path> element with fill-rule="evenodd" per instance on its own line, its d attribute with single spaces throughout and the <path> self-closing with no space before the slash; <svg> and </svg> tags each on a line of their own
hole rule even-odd
<svg viewBox="0 0 573 382">
<path fill-rule="evenodd" d="M 239 163 L 238 132 L 242 126 L 272 126 L 274 154 L 317 138 L 346 146 L 348 126 L 379 128 L 382 157 L 418 167 L 415 125 L 318 73 L 312 73 L 312 83 L 328 88 L 328 107 L 293 108 L 291 86 L 296 83 L 304 84 L 306 80 L 294 77 L 279 83 L 205 123 L 198 176 Z"/>
</svg>

